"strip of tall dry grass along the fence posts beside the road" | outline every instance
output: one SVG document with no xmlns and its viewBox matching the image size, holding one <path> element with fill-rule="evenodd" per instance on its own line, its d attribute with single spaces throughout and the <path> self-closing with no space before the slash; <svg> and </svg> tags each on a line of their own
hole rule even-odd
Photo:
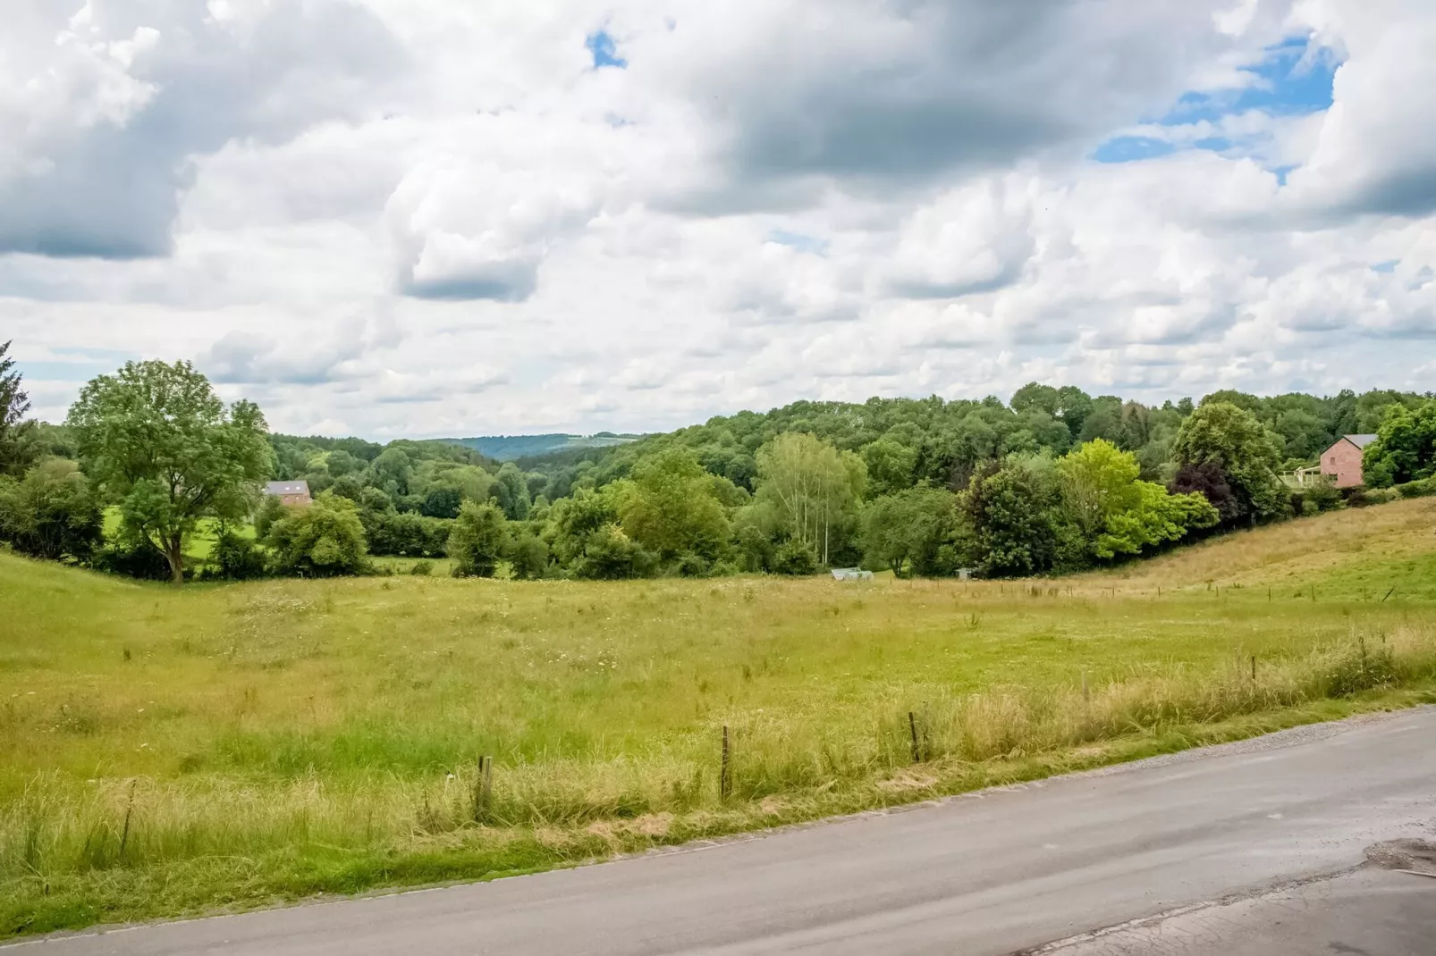
<svg viewBox="0 0 1436 956">
<path fill-rule="evenodd" d="M 428 853 L 471 847 L 501 854 L 521 834 L 589 845 L 597 821 L 727 812 L 725 825 L 761 823 L 781 797 L 801 805 L 846 792 L 854 805 L 913 764 L 928 789 L 962 777 L 965 764 L 1012 761 L 1083 745 L 1160 735 L 1163 729 L 1351 698 L 1436 680 L 1436 630 L 1353 633 L 1301 657 L 1232 659 L 1219 669 L 1173 665 L 1133 669 L 1100 685 L 1058 690 L 1020 685 L 938 696 L 915 711 L 903 699 L 875 702 L 866 732 L 813 713 L 731 713 L 732 789 L 718 789 L 718 722 L 688 738 L 607 759 L 501 764 L 490 804 L 480 804 L 477 765 L 429 777 L 368 774 L 339 781 L 317 772 L 264 784 L 204 777 L 75 781 L 36 774 L 0 808 L 0 889 L 33 891 L 113 871 L 162 868 L 197 858 L 284 854 L 294 847 L 343 853 Z M 909 718 L 909 713 L 913 716 Z M 655 824 L 662 838 L 672 823 Z"/>
</svg>

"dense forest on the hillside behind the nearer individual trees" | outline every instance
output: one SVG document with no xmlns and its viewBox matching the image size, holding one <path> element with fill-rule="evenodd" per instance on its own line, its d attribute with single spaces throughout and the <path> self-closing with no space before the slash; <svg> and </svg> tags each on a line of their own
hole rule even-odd
<svg viewBox="0 0 1436 956">
<path fill-rule="evenodd" d="M 1376 432 L 1389 406 L 1414 409 L 1429 398 L 1390 390 L 1259 398 L 1222 390 L 1202 402 L 1231 402 L 1251 412 L 1271 434 L 1281 467 L 1290 471 L 1315 465 L 1321 451 L 1341 435 Z M 1091 398 L 1073 386 L 1038 383 L 1018 389 L 1011 402 L 995 396 L 954 402 L 936 396 L 873 398 L 860 405 L 794 402 L 771 412 L 712 418 L 622 448 L 520 458 L 517 464 L 546 475 L 544 495 L 556 500 L 576 485 L 590 481 L 605 485 L 622 478 L 653 448 L 676 444 L 692 449 L 708 471 L 752 491 L 757 449 L 784 432 L 808 432 L 860 454 L 875 489 L 882 494 L 922 481 L 961 488 L 984 461 L 1043 451 L 1061 455 L 1103 438 L 1133 452 L 1144 479 L 1169 481 L 1175 471 L 1172 442 L 1193 408 L 1192 399 L 1147 406 L 1114 395 Z"/>
</svg>

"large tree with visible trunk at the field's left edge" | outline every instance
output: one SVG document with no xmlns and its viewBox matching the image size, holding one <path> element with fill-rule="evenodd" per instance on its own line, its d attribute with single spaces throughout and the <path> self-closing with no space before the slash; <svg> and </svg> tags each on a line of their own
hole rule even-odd
<svg viewBox="0 0 1436 956">
<path fill-rule="evenodd" d="M 273 468 L 258 406 L 225 406 L 188 362 L 129 362 L 93 379 L 67 423 L 85 472 L 165 556 L 175 584 L 200 518 L 243 518 Z"/>
</svg>

